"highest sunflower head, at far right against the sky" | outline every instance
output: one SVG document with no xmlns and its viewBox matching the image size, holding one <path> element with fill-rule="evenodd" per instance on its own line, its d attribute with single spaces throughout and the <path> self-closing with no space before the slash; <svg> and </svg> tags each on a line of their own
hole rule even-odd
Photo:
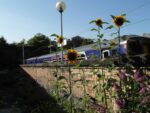
<svg viewBox="0 0 150 113">
<path fill-rule="evenodd" d="M 126 19 L 124 16 L 114 16 L 113 22 L 117 27 L 121 27 L 126 22 Z"/>
</svg>

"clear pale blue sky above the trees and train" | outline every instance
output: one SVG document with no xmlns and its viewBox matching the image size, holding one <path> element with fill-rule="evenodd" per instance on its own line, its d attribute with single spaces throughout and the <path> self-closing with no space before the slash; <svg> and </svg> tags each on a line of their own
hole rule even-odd
<svg viewBox="0 0 150 113">
<path fill-rule="evenodd" d="M 60 35 L 60 13 L 56 10 L 59 0 L 0 0 L 0 36 L 8 43 L 28 41 L 37 33 L 50 37 Z M 110 15 L 126 13 L 126 23 L 121 35 L 150 33 L 150 0 L 63 0 L 63 35 L 65 38 L 82 36 L 96 39 L 91 31 L 91 20 L 101 18 L 110 24 Z M 104 28 L 108 25 L 104 25 Z M 111 39 L 114 30 L 101 30 L 104 38 Z"/>
</svg>

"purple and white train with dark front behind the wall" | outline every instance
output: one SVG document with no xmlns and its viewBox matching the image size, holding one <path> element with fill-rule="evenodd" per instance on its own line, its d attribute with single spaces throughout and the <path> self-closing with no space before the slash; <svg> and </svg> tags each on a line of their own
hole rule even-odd
<svg viewBox="0 0 150 113">
<path fill-rule="evenodd" d="M 116 40 L 117 41 L 117 40 Z M 123 61 L 129 61 L 135 63 L 135 65 L 150 65 L 150 38 L 136 35 L 126 36 L 124 41 L 121 41 L 118 48 L 118 44 L 114 47 L 105 40 L 101 43 L 101 50 L 97 43 L 84 45 L 75 48 L 78 51 L 77 60 L 90 61 L 99 59 L 107 60 L 108 58 L 118 58 L 118 53 Z M 66 61 L 64 55 L 66 51 L 55 52 L 42 56 L 32 57 L 26 59 L 26 64 L 39 64 L 45 62 L 60 62 L 62 59 Z M 63 56 L 63 57 L 62 57 Z M 125 60 L 126 59 L 126 60 Z M 139 63 L 139 64 L 136 64 Z"/>
</svg>

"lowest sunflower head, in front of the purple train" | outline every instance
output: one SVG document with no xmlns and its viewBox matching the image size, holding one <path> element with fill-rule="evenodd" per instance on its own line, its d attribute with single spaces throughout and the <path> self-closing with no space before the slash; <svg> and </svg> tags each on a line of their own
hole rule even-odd
<svg viewBox="0 0 150 113">
<path fill-rule="evenodd" d="M 67 54 L 65 55 L 66 60 L 68 60 L 69 63 L 75 64 L 77 62 L 78 53 L 74 49 L 69 49 L 67 51 Z"/>
</svg>

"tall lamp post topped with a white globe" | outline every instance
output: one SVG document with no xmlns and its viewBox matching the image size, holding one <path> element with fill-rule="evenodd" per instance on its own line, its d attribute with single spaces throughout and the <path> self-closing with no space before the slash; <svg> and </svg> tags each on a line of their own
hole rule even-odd
<svg viewBox="0 0 150 113">
<path fill-rule="evenodd" d="M 66 8 L 66 5 L 63 1 L 59 1 L 56 3 L 56 9 L 60 12 L 60 28 L 61 28 L 61 37 L 63 38 L 63 12 Z M 62 51 L 62 59 L 61 61 L 63 61 L 63 43 L 61 44 L 61 51 Z"/>
</svg>

